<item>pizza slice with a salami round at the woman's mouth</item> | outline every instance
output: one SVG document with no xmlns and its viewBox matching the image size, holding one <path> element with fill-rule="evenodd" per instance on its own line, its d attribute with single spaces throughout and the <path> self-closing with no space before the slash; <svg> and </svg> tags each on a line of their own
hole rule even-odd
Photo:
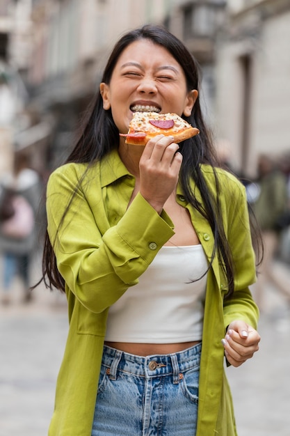
<svg viewBox="0 0 290 436">
<path fill-rule="evenodd" d="M 188 124 L 186 120 L 177 114 L 157 114 L 156 112 L 134 112 L 133 118 L 129 123 L 129 132 L 120 133 L 120 137 L 126 137 L 125 143 L 135 146 L 145 146 L 145 144 L 163 134 L 166 137 L 174 137 L 174 142 L 179 143 L 185 139 L 194 137 L 200 131 Z"/>
</svg>

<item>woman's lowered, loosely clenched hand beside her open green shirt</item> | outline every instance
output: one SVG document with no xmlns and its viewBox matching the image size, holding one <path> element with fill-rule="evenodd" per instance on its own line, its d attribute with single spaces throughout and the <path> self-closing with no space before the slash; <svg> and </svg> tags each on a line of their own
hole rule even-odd
<svg viewBox="0 0 290 436">
<path fill-rule="evenodd" d="M 225 357 L 232 366 L 241 366 L 259 350 L 261 337 L 257 330 L 241 320 L 233 321 L 222 339 Z"/>
</svg>

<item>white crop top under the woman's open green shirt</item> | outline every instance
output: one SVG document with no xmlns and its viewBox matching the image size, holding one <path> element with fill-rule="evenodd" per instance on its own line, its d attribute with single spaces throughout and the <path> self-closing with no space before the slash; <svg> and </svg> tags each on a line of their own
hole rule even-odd
<svg viewBox="0 0 290 436">
<path fill-rule="evenodd" d="M 200 277 L 207 267 L 200 244 L 162 247 L 139 283 L 109 309 L 106 341 L 200 341 L 207 274 Z"/>
</svg>

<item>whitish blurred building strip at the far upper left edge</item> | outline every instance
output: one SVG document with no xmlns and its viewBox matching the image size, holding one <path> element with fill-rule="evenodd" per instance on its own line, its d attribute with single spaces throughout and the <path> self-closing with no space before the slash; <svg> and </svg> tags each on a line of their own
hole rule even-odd
<svg viewBox="0 0 290 436">
<path fill-rule="evenodd" d="M 24 84 L 31 59 L 31 0 L 0 2 L 0 177 L 11 171 L 15 136 L 29 125 Z"/>
</svg>

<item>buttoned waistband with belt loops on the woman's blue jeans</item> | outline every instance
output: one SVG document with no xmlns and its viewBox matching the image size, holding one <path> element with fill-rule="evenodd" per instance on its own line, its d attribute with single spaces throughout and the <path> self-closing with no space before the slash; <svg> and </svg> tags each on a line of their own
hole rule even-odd
<svg viewBox="0 0 290 436">
<path fill-rule="evenodd" d="M 174 382 L 188 369 L 200 366 L 202 344 L 169 355 L 137 356 L 104 345 L 102 364 L 110 378 L 115 380 L 117 370 L 139 377 L 173 375 Z"/>
</svg>

